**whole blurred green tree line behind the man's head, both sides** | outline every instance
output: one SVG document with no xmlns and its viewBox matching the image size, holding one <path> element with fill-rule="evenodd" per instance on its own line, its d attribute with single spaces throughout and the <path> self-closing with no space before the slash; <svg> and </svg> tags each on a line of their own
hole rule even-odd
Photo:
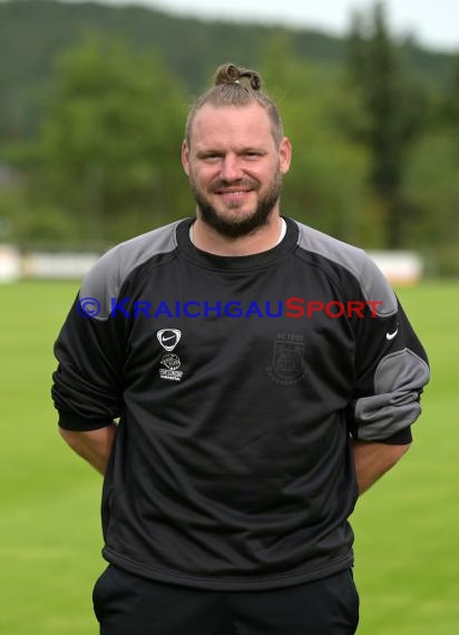
<svg viewBox="0 0 459 635">
<path fill-rule="evenodd" d="M 341 65 L 305 60 L 287 29 L 263 38 L 256 68 L 294 147 L 282 209 L 365 248 L 421 251 L 432 273 L 458 274 L 459 60 L 447 81 L 426 81 L 403 51 L 381 3 L 353 16 Z M 209 79 L 191 88 L 160 50 L 99 29 L 69 45 L 35 130 L 0 138 L 18 175 L 0 188 L 3 240 L 104 250 L 193 215 L 179 148 Z"/>
</svg>

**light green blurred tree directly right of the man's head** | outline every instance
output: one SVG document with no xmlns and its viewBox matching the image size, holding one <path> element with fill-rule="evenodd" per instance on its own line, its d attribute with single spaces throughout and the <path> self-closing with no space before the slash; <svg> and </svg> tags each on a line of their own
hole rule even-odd
<svg viewBox="0 0 459 635">
<path fill-rule="evenodd" d="M 261 70 L 293 143 L 282 201 L 285 214 L 343 241 L 367 243 L 367 157 L 340 130 L 338 105 L 348 105 L 339 70 L 297 58 L 286 31 L 266 41 Z"/>
</svg>

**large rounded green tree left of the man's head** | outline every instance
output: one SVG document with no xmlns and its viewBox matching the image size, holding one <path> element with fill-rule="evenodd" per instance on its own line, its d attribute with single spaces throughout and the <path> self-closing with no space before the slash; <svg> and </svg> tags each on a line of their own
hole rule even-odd
<svg viewBox="0 0 459 635">
<path fill-rule="evenodd" d="M 79 242 L 95 246 L 182 215 L 186 101 L 156 55 L 87 37 L 57 60 L 35 197 L 70 214 Z"/>
</svg>

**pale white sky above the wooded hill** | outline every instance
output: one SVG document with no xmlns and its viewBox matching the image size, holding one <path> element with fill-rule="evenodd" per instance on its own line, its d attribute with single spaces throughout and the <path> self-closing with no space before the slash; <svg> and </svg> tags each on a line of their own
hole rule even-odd
<svg viewBox="0 0 459 635">
<path fill-rule="evenodd" d="M 344 35 L 352 9 L 373 0 L 98 0 L 106 4 L 143 4 L 202 18 L 231 18 L 318 28 Z M 459 52 L 459 0 L 385 0 L 391 32 L 413 33 L 430 49 Z"/>
</svg>

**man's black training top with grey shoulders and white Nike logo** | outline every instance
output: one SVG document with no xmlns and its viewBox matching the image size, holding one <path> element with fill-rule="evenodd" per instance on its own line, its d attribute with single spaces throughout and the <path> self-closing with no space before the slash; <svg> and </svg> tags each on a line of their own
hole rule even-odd
<svg viewBox="0 0 459 635">
<path fill-rule="evenodd" d="M 104 255 L 56 343 L 59 424 L 119 418 L 104 556 L 212 589 L 325 577 L 352 565 L 350 439 L 410 442 L 426 353 L 361 250 L 286 218 L 223 257 L 192 222 Z"/>
</svg>

